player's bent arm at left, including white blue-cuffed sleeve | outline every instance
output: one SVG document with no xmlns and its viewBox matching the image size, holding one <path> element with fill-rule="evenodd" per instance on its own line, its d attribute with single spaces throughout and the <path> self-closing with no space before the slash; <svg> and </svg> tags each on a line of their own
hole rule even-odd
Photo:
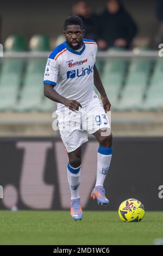
<svg viewBox="0 0 163 256">
<path fill-rule="evenodd" d="M 57 85 L 57 78 L 59 74 L 60 63 L 54 59 L 48 59 L 44 75 L 44 95 L 49 99 L 64 104 L 66 107 L 70 108 L 72 111 L 79 110 L 82 107 L 80 103 L 76 100 L 69 100 L 61 96 L 54 90 Z"/>
</svg>

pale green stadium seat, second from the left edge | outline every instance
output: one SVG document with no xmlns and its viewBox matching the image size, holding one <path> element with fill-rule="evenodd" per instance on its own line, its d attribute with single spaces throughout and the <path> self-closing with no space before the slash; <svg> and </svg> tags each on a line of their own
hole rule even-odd
<svg viewBox="0 0 163 256">
<path fill-rule="evenodd" d="M 31 51 L 49 51 L 47 36 L 35 35 L 29 42 Z M 26 75 L 20 92 L 20 101 L 15 111 L 32 111 L 43 102 L 43 74 L 47 59 L 30 58 L 27 61 Z"/>
</svg>

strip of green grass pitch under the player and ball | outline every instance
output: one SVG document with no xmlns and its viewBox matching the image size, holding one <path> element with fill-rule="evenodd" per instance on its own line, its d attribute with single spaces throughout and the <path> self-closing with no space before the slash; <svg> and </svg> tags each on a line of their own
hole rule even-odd
<svg viewBox="0 0 163 256">
<path fill-rule="evenodd" d="M 0 211 L 1 245 L 152 245 L 163 237 L 163 212 L 146 212 L 139 223 L 124 223 L 117 212 Z"/>
</svg>

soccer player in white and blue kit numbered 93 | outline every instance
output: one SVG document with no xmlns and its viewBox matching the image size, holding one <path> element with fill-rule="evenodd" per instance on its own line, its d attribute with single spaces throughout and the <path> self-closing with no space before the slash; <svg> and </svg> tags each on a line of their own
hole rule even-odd
<svg viewBox="0 0 163 256">
<path fill-rule="evenodd" d="M 96 68 L 97 44 L 84 39 L 82 19 L 67 17 L 64 24 L 66 41 L 49 55 L 44 77 L 44 95 L 57 102 L 57 120 L 61 139 L 68 154 L 67 177 L 71 191 L 71 216 L 82 220 L 79 196 L 82 144 L 87 133 L 99 142 L 97 179 L 91 198 L 98 204 L 109 204 L 103 188 L 112 156 L 112 135 L 106 112 L 110 102 Z M 93 85 L 101 94 L 101 101 Z"/>
</svg>

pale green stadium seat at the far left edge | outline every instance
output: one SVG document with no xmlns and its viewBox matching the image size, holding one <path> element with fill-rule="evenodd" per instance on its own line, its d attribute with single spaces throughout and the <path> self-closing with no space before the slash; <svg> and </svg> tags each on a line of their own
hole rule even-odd
<svg viewBox="0 0 163 256">
<path fill-rule="evenodd" d="M 12 35 L 5 40 L 5 52 L 25 50 L 25 41 L 22 36 Z M 23 59 L 4 59 L 0 76 L 0 111 L 12 110 L 16 105 L 18 90 L 22 81 L 24 69 Z"/>
</svg>

